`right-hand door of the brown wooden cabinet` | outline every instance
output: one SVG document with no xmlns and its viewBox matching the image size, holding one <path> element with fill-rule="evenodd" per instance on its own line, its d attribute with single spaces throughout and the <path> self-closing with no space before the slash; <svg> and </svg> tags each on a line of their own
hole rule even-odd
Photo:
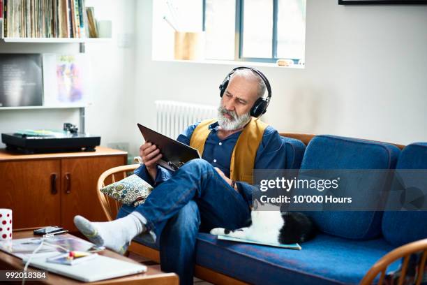
<svg viewBox="0 0 427 285">
<path fill-rule="evenodd" d="M 61 224 L 77 231 L 73 223 L 76 214 L 91 221 L 106 221 L 96 193 L 96 182 L 105 170 L 123 166 L 125 156 L 96 156 L 61 160 L 62 193 Z"/>
</svg>

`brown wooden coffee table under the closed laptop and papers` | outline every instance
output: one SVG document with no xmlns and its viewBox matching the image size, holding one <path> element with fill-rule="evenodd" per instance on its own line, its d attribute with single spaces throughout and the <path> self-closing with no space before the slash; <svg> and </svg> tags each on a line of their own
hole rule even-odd
<svg viewBox="0 0 427 285">
<path fill-rule="evenodd" d="M 73 235 L 63 235 L 64 237 Z M 23 229 L 18 231 L 13 231 L 13 238 L 33 238 L 33 230 L 32 229 Z M 76 238 L 76 237 L 75 237 Z M 98 254 L 101 254 L 103 256 L 108 256 L 112 258 L 121 259 L 122 261 L 128 261 L 131 263 L 137 263 L 136 261 L 133 261 L 130 258 L 127 258 L 126 256 L 121 256 L 120 254 L 116 254 L 114 251 L 110 251 L 108 249 L 99 252 Z M 146 273 L 140 273 L 137 275 L 128 275 L 125 277 L 119 277 L 119 278 L 113 278 L 113 279 L 107 279 L 103 281 L 98 282 L 90 282 L 87 284 L 114 284 L 114 285 L 144 285 L 144 284 L 150 284 L 150 285 L 160 285 L 160 284 L 173 284 L 178 285 L 179 284 L 179 278 L 174 273 L 165 273 L 161 272 L 157 268 L 155 268 L 152 265 L 147 265 L 147 272 Z M 6 252 L 0 251 L 0 270 L 23 270 L 24 264 L 22 263 L 22 260 L 20 258 L 17 258 L 15 256 L 12 256 L 10 254 L 6 254 Z M 38 270 L 37 268 L 34 268 L 35 270 Z M 1 283 L 1 282 L 0 282 Z M 63 284 L 63 285 L 70 285 L 70 284 L 84 284 L 84 282 L 80 282 L 74 279 L 70 279 L 65 276 L 57 275 L 52 272 L 48 272 L 48 277 L 45 280 L 40 280 L 36 282 L 37 284 Z M 7 282 L 7 284 L 13 284 L 13 282 Z M 34 282 L 31 282 L 31 280 L 26 279 L 25 284 L 34 284 Z"/>
</svg>

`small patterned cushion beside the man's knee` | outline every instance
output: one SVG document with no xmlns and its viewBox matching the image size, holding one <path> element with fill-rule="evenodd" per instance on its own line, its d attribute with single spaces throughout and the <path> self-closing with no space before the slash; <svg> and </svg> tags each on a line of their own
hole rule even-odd
<svg viewBox="0 0 427 285">
<path fill-rule="evenodd" d="M 114 200 L 125 205 L 133 205 L 133 207 L 144 203 L 152 190 L 153 187 L 136 174 L 100 189 Z"/>
</svg>

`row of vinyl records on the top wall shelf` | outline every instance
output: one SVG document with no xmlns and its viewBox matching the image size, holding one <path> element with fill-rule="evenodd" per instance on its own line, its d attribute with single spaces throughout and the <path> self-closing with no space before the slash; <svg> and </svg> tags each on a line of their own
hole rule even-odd
<svg viewBox="0 0 427 285">
<path fill-rule="evenodd" d="M 0 0 L 0 32 L 6 38 L 84 38 L 84 0 Z M 91 19 L 96 20 L 91 9 Z M 96 29 L 96 27 L 95 27 Z"/>
</svg>

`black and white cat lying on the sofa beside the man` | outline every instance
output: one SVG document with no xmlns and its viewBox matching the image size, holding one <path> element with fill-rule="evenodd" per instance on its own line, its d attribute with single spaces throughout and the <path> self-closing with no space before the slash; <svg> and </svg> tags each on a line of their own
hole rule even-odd
<svg viewBox="0 0 427 285">
<path fill-rule="evenodd" d="M 268 211 L 257 210 L 258 202 L 254 201 L 250 213 L 250 226 L 229 230 L 213 228 L 212 235 L 227 235 L 232 238 L 241 238 L 267 244 L 293 244 L 306 242 L 315 236 L 315 226 L 305 214 L 301 212 L 280 212 L 280 207 Z M 271 207 L 270 207 L 271 206 Z"/>
</svg>

